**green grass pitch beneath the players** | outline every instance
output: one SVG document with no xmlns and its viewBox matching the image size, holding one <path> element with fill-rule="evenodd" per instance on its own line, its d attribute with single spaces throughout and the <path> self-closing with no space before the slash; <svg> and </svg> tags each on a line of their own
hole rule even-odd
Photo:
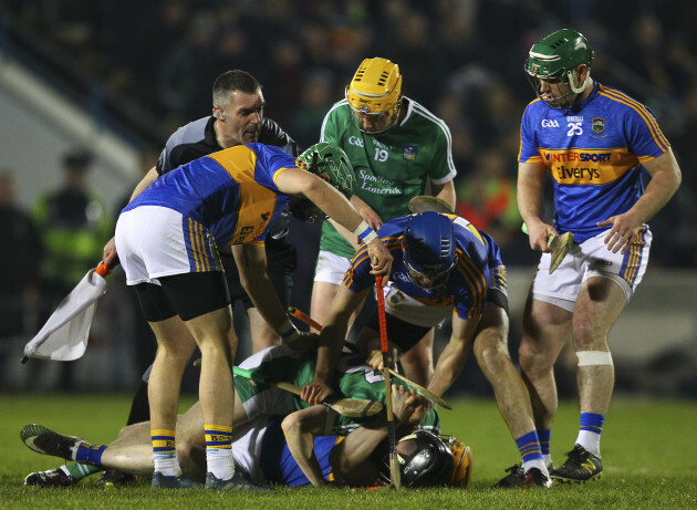
<svg viewBox="0 0 697 510">
<path fill-rule="evenodd" d="M 187 403 L 190 403 L 188 400 Z M 152 491 L 147 486 L 98 489 L 96 476 L 70 489 L 22 485 L 31 471 L 58 467 L 59 459 L 37 455 L 19 440 L 20 428 L 41 423 L 91 441 L 106 443 L 124 423 L 129 396 L 50 395 L 0 397 L 0 508 L 2 509 L 440 509 L 440 508 L 697 508 L 697 406 L 689 402 L 615 398 L 603 433 L 605 470 L 600 481 L 556 486 L 552 490 L 491 490 L 518 451 L 496 405 L 452 399 L 456 410 L 441 413 L 444 431 L 474 451 L 467 490 L 279 489 L 268 495 L 209 491 Z M 576 436 L 574 403 L 562 403 L 552 436 L 561 464 Z"/>
</svg>

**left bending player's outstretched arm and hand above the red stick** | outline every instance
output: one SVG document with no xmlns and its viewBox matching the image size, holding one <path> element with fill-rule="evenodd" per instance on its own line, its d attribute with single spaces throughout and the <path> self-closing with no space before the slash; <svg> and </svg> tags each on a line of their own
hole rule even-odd
<svg viewBox="0 0 697 510">
<path fill-rule="evenodd" d="M 329 183 L 309 171 L 300 168 L 288 168 L 275 177 L 275 185 L 282 192 L 304 195 L 305 198 L 347 230 L 355 231 L 363 222 L 363 219 L 346 197 Z M 373 262 L 371 273 L 389 274 L 393 258 L 377 236 L 367 243 L 367 250 Z"/>
</svg>

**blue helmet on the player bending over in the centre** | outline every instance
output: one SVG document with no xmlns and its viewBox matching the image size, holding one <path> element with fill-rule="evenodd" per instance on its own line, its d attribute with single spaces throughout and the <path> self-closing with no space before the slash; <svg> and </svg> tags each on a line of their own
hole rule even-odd
<svg viewBox="0 0 697 510">
<path fill-rule="evenodd" d="M 404 263 L 415 285 L 441 287 L 455 268 L 452 220 L 438 212 L 413 215 L 404 229 Z"/>
</svg>

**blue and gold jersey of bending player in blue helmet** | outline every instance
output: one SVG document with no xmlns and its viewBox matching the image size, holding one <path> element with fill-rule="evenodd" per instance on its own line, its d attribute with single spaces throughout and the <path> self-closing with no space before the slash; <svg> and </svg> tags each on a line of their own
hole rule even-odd
<svg viewBox="0 0 697 510">
<path fill-rule="evenodd" d="M 422 289 L 409 280 L 402 251 L 402 240 L 408 216 L 387 221 L 377 231 L 394 257 L 389 280 L 403 293 L 425 305 L 455 306 L 455 313 L 460 319 L 475 319 L 483 311 L 489 268 L 502 267 L 502 262 L 498 247 L 491 238 L 482 236 L 466 219 L 454 215 L 447 216 L 454 220 L 455 252 L 457 254 L 457 264 L 450 273 L 447 285 L 443 289 Z M 371 260 L 365 246 L 356 251 L 351 261 L 351 268 L 344 274 L 343 283 L 356 293 L 375 284 L 375 277 L 371 274 Z"/>
</svg>

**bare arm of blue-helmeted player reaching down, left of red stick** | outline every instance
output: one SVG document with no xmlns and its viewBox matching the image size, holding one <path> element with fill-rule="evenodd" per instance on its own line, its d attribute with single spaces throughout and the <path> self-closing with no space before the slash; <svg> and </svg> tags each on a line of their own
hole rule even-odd
<svg viewBox="0 0 697 510">
<path fill-rule="evenodd" d="M 319 404 L 333 393 L 334 370 L 344 347 L 348 320 L 366 293 L 367 290 L 354 292 L 344 285 L 339 287 L 320 333 L 314 379 L 302 388 L 301 397 L 303 400 Z"/>
</svg>

